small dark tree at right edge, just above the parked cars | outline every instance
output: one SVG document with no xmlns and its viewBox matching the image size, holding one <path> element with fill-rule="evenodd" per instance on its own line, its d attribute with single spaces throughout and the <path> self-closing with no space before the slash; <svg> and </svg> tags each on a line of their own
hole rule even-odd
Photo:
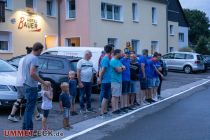
<svg viewBox="0 0 210 140">
<path fill-rule="evenodd" d="M 208 48 L 208 39 L 204 36 L 201 36 L 198 40 L 198 44 L 195 47 L 195 51 L 199 54 L 209 55 L 210 50 Z"/>
</svg>

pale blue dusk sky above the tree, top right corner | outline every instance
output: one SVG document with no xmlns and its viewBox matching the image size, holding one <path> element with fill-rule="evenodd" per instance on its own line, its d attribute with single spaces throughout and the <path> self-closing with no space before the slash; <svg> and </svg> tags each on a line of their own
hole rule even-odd
<svg viewBox="0 0 210 140">
<path fill-rule="evenodd" d="M 210 0 L 179 0 L 183 8 L 204 11 L 210 19 Z"/>
</svg>

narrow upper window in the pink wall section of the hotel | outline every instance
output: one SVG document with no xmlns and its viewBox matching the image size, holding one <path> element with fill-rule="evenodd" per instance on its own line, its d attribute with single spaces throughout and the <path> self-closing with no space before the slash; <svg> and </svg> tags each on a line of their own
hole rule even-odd
<svg viewBox="0 0 210 140">
<path fill-rule="evenodd" d="M 75 0 L 66 0 L 66 17 L 67 19 L 75 19 L 76 18 L 76 1 Z"/>
</svg>

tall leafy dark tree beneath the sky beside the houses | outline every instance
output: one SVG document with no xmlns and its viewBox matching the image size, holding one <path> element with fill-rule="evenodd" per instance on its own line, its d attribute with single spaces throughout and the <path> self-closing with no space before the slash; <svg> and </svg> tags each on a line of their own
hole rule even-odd
<svg viewBox="0 0 210 140">
<path fill-rule="evenodd" d="M 190 44 L 196 45 L 200 36 L 210 37 L 209 18 L 206 13 L 199 10 L 184 9 L 185 16 L 189 22 L 189 41 Z"/>
</svg>

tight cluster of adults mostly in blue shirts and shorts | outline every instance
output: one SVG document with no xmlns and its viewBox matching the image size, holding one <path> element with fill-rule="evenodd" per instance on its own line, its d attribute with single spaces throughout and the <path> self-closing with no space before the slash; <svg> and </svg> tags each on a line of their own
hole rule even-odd
<svg viewBox="0 0 210 140">
<path fill-rule="evenodd" d="M 135 106 L 151 104 L 161 99 L 160 88 L 163 79 L 161 54 L 148 56 L 148 50 L 137 57 L 134 51 L 113 50 L 112 45 L 104 47 L 101 58 L 99 84 L 101 84 L 101 115 L 107 114 L 111 100 L 112 113 L 126 113 Z M 159 88 L 159 94 L 157 90 Z"/>
</svg>

